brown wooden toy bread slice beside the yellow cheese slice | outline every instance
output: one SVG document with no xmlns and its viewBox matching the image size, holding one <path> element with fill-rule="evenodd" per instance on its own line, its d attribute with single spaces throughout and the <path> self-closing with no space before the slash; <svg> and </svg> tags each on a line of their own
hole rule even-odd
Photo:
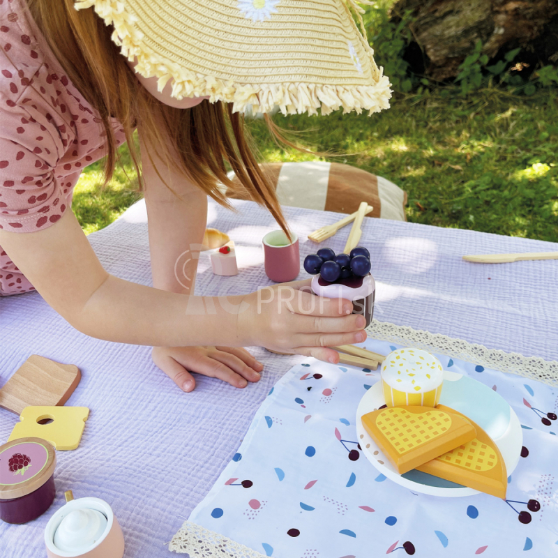
<svg viewBox="0 0 558 558">
<path fill-rule="evenodd" d="M 19 416 L 30 405 L 64 405 L 80 379 L 82 374 L 76 365 L 33 354 L 0 390 L 0 407 Z"/>
</svg>

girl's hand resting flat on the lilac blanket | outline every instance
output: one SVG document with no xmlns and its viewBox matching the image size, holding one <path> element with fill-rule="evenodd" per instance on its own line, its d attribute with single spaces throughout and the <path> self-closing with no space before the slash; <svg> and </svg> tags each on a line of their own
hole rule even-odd
<svg viewBox="0 0 558 558">
<path fill-rule="evenodd" d="M 245 388 L 257 382 L 264 365 L 246 349 L 236 347 L 153 347 L 153 362 L 183 391 L 196 386 L 191 372 Z"/>
</svg>

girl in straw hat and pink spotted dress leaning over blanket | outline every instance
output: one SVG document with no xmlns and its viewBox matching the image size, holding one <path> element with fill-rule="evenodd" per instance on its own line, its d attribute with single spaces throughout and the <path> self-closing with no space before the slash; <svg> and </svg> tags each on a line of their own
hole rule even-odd
<svg viewBox="0 0 558 558">
<path fill-rule="evenodd" d="M 202 242 L 207 195 L 227 205 L 225 161 L 288 230 L 243 135 L 246 105 L 387 107 L 389 83 L 344 0 L 0 0 L 0 72 L 0 294 L 36 289 L 86 335 L 152 345 L 184 391 L 190 372 L 257 382 L 263 366 L 244 345 L 335 363 L 328 347 L 365 339 L 349 301 L 316 305 L 306 282 L 273 287 L 272 303 L 257 292 L 225 303 L 174 276 Z M 153 287 L 107 273 L 70 211 L 81 170 L 106 157 L 110 179 L 125 141 L 144 187 Z M 207 304 L 216 312 L 199 311 Z"/>
</svg>

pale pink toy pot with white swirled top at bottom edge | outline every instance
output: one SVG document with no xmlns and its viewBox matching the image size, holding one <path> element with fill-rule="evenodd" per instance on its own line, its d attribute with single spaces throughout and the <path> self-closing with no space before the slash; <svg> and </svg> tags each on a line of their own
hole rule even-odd
<svg viewBox="0 0 558 558">
<path fill-rule="evenodd" d="M 70 499 L 57 510 L 47 523 L 45 545 L 48 558 L 123 558 L 124 555 L 122 529 L 109 504 L 100 498 Z"/>
</svg>

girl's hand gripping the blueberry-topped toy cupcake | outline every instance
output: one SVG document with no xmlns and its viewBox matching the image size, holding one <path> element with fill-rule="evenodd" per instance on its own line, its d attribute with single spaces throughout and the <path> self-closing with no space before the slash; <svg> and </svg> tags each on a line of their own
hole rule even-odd
<svg viewBox="0 0 558 558">
<path fill-rule="evenodd" d="M 338 352 L 329 347 L 366 339 L 365 319 L 352 314 L 352 302 L 315 296 L 310 280 L 265 287 L 244 296 L 245 303 L 239 331 L 248 333 L 251 345 L 338 363 Z"/>
</svg>

